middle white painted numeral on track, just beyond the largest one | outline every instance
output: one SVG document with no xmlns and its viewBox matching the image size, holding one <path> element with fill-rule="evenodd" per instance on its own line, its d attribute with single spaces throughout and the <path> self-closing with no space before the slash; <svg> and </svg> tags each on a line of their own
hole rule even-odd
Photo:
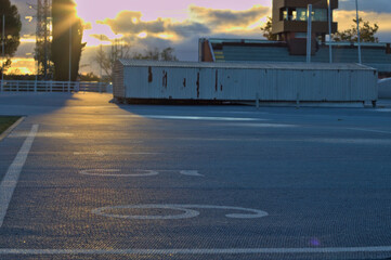
<svg viewBox="0 0 391 260">
<path fill-rule="evenodd" d="M 160 174 L 160 172 L 178 172 L 182 176 L 204 177 L 203 174 L 198 173 L 197 170 L 136 170 L 138 173 L 116 173 L 116 172 L 121 172 L 121 170 L 91 169 L 91 170 L 79 171 L 79 173 L 83 176 L 96 176 L 96 177 L 152 177 L 152 176 L 158 176 Z"/>
</svg>

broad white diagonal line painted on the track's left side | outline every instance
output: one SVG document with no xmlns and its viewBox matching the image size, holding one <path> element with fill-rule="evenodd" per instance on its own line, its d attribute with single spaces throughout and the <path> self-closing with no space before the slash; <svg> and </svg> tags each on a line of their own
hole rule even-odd
<svg viewBox="0 0 391 260">
<path fill-rule="evenodd" d="M 3 224 L 6 210 L 9 208 L 12 195 L 17 184 L 17 180 L 19 179 L 19 174 L 22 172 L 23 166 L 26 162 L 27 155 L 30 152 L 34 139 L 38 132 L 38 125 L 34 125 L 27 139 L 23 143 L 19 152 L 17 153 L 15 159 L 12 165 L 9 167 L 4 179 L 0 184 L 0 227 Z"/>
</svg>

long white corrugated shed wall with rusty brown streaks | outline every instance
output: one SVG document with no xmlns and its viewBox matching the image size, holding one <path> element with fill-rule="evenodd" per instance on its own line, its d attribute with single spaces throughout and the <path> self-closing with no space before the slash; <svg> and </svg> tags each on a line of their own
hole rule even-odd
<svg viewBox="0 0 391 260">
<path fill-rule="evenodd" d="M 216 63 L 214 63 L 216 64 Z M 308 101 L 377 100 L 374 69 L 302 69 L 201 66 L 125 66 L 125 96 L 130 100 Z M 314 66 L 314 65 L 311 65 Z M 115 83 L 114 88 L 121 88 Z M 115 93 L 120 93 L 115 91 Z"/>
</svg>

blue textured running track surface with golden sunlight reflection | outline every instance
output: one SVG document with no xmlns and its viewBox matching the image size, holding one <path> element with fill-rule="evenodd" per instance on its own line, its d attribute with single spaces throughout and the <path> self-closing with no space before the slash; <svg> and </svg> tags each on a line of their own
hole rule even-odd
<svg viewBox="0 0 391 260">
<path fill-rule="evenodd" d="M 390 108 L 109 99 L 0 94 L 0 114 L 27 116 L 0 180 L 38 128 L 0 259 L 391 257 Z"/>
</svg>

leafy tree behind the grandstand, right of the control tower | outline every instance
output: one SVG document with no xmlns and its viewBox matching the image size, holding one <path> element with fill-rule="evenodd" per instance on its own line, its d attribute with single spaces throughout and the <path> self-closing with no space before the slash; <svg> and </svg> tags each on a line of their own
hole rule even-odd
<svg viewBox="0 0 391 260">
<path fill-rule="evenodd" d="M 379 42 L 379 39 L 375 36 L 376 32 L 379 30 L 379 26 L 374 24 L 370 25 L 368 21 L 364 22 L 362 18 L 359 20 L 362 26 L 360 26 L 360 39 L 362 42 Z M 357 20 L 353 20 L 354 25 L 350 29 L 343 31 L 337 31 L 333 39 L 335 41 L 350 41 L 350 42 L 357 42 Z"/>
</svg>

